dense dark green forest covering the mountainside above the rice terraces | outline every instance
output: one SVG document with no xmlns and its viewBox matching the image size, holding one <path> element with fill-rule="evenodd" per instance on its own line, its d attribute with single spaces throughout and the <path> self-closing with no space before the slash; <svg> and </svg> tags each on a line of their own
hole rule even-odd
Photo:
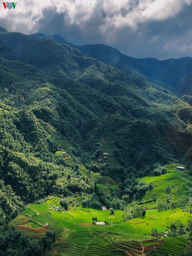
<svg viewBox="0 0 192 256">
<path fill-rule="evenodd" d="M 80 194 L 84 206 L 123 208 L 150 189 L 136 178 L 192 160 L 190 95 L 179 98 L 133 67 L 102 63 L 54 39 L 0 32 L 2 224 L 49 195 L 70 201 Z M 102 189 L 82 166 L 118 187 Z"/>
</svg>

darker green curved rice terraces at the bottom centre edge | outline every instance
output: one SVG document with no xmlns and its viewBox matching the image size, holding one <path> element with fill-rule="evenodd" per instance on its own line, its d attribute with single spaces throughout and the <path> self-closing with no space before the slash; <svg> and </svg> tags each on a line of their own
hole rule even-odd
<svg viewBox="0 0 192 256">
<path fill-rule="evenodd" d="M 126 252 L 133 255 L 141 255 L 142 246 L 134 240 L 123 240 L 118 234 L 112 232 L 100 232 L 94 230 L 74 232 L 68 236 L 68 240 L 55 243 L 52 249 L 61 255 L 125 255 Z"/>
</svg>

